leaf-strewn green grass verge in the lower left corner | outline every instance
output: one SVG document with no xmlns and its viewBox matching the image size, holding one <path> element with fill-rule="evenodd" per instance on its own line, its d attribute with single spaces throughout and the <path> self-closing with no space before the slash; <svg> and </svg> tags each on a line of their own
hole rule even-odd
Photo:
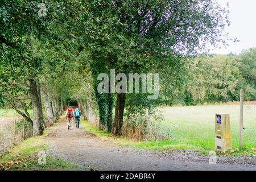
<svg viewBox="0 0 256 182">
<path fill-rule="evenodd" d="M 74 164 L 69 164 L 65 160 L 46 156 L 46 164 L 38 164 L 38 152 L 46 151 L 48 143 L 43 139 L 51 129 L 45 130 L 43 136 L 32 137 L 20 142 L 8 153 L 0 155 L 0 164 L 7 170 L 73 170 Z M 11 164 L 10 164 L 11 163 Z M 1 168 L 0 168 L 1 169 Z"/>
</svg>

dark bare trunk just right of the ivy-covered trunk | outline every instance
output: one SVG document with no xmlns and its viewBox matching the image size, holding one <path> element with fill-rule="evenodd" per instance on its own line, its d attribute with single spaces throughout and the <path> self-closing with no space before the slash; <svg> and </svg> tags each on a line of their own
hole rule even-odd
<svg viewBox="0 0 256 182">
<path fill-rule="evenodd" d="M 115 106 L 115 118 L 112 133 L 119 135 L 123 126 L 123 111 L 125 110 L 125 93 L 117 94 L 117 104 Z"/>
</svg>

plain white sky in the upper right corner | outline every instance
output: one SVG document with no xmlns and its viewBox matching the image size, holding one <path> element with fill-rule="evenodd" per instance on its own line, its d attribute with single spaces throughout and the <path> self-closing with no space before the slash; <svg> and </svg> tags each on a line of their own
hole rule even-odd
<svg viewBox="0 0 256 182">
<path fill-rule="evenodd" d="M 256 1 L 255 0 L 217 0 L 223 6 L 229 2 L 231 25 L 226 28 L 230 38 L 240 42 L 228 42 L 228 48 L 214 49 L 210 53 L 240 53 L 243 49 L 256 47 Z"/>
</svg>

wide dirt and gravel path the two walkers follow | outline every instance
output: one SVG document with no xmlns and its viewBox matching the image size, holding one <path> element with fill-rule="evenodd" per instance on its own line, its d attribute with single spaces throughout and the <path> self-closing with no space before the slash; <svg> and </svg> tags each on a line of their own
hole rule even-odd
<svg viewBox="0 0 256 182">
<path fill-rule="evenodd" d="M 63 118 L 46 137 L 48 155 L 77 164 L 78 170 L 256 170 L 256 158 L 218 158 L 174 150 L 155 152 L 117 146 L 114 139 L 90 134 L 84 129 L 67 130 Z"/>
</svg>

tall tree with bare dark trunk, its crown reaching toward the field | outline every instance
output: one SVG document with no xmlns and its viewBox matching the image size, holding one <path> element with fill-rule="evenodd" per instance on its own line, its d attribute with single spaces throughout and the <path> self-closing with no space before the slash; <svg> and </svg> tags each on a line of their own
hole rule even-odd
<svg viewBox="0 0 256 182">
<path fill-rule="evenodd" d="M 113 28 L 123 39 L 118 44 L 123 52 L 118 52 L 117 73 L 163 73 L 174 55 L 195 54 L 209 42 L 225 43 L 228 11 L 216 1 L 117 0 L 109 4 L 119 20 Z M 113 134 L 122 127 L 125 98 L 125 93 L 117 94 Z"/>
</svg>

